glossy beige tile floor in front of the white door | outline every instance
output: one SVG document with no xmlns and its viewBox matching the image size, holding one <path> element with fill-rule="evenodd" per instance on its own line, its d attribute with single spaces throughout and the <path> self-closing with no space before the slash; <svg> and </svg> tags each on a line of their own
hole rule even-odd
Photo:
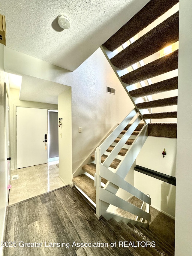
<svg viewBox="0 0 192 256">
<path fill-rule="evenodd" d="M 59 178 L 58 161 L 11 171 L 9 205 L 64 186 Z M 19 174 L 19 179 L 12 176 Z"/>
</svg>

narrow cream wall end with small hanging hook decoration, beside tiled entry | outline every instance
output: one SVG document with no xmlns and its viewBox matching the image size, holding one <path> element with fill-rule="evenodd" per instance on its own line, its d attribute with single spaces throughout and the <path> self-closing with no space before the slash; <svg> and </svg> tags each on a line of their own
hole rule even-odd
<svg viewBox="0 0 192 256">
<path fill-rule="evenodd" d="M 59 135 L 59 177 L 65 185 L 72 182 L 72 126 L 71 126 L 71 88 L 58 96 L 58 117 L 62 125 Z M 61 137 L 62 136 L 62 137 Z"/>
</svg>

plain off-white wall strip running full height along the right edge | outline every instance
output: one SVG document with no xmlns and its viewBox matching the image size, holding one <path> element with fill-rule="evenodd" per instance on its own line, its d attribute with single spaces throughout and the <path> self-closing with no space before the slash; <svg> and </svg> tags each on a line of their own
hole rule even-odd
<svg viewBox="0 0 192 256">
<path fill-rule="evenodd" d="M 192 241 L 192 2 L 180 0 L 175 255 L 191 255 Z"/>
</svg>

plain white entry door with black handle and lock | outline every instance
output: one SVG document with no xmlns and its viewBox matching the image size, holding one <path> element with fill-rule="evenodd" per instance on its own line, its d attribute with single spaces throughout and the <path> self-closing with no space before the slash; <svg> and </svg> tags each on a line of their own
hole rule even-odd
<svg viewBox="0 0 192 256">
<path fill-rule="evenodd" d="M 47 110 L 17 107 L 16 125 L 17 168 L 47 163 Z"/>
</svg>

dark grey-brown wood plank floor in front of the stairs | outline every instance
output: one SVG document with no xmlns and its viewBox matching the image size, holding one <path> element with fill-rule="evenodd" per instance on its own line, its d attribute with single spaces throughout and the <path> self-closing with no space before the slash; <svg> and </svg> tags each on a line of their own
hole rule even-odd
<svg viewBox="0 0 192 256">
<path fill-rule="evenodd" d="M 4 256 L 132 256 L 128 248 L 110 246 L 119 238 L 94 213 L 70 186 L 9 206 L 5 241 L 16 246 L 4 247 Z M 100 247 L 77 247 L 77 243 L 91 242 Z"/>
</svg>

